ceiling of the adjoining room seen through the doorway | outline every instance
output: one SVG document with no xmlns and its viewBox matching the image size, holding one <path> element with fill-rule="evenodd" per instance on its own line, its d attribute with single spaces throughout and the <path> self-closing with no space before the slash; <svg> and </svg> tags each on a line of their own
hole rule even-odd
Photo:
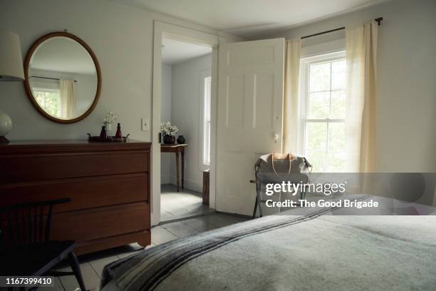
<svg viewBox="0 0 436 291">
<path fill-rule="evenodd" d="M 175 65 L 208 53 L 212 53 L 210 46 L 200 46 L 174 39 L 162 39 L 162 62 L 168 65 Z"/>
</svg>

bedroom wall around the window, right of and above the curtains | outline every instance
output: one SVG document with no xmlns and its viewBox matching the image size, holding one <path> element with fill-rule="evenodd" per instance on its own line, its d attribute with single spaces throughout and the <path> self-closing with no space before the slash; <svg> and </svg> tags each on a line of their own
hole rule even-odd
<svg viewBox="0 0 436 291">
<path fill-rule="evenodd" d="M 389 1 L 269 36 L 292 39 L 383 17 L 378 38 L 378 171 L 436 172 L 436 1 Z M 343 31 L 303 46 L 343 39 Z"/>
</svg>

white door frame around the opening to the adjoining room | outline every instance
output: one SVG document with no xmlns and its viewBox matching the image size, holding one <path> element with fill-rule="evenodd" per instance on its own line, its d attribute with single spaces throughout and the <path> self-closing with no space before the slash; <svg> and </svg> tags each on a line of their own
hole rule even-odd
<svg viewBox="0 0 436 291">
<path fill-rule="evenodd" d="M 153 80 L 152 80 L 152 171 L 151 175 L 151 224 L 160 223 L 160 112 L 162 83 L 162 38 L 212 46 L 212 90 L 211 90 L 211 165 L 209 181 L 209 207 L 215 208 L 216 189 L 216 146 L 217 146 L 217 84 L 218 46 L 223 38 L 214 34 L 188 29 L 186 27 L 154 21 L 153 36 Z"/>
</svg>

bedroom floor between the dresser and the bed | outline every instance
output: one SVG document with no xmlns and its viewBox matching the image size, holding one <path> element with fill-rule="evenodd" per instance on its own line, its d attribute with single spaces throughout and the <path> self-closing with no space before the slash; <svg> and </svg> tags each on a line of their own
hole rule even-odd
<svg viewBox="0 0 436 291">
<path fill-rule="evenodd" d="M 209 214 L 198 218 L 190 218 L 187 220 L 177 221 L 175 223 L 167 223 L 152 228 L 152 245 L 154 247 L 170 240 L 177 238 L 185 238 L 190 235 L 196 235 L 206 230 L 221 228 L 226 225 L 240 223 L 246 218 L 239 218 L 232 215 L 224 214 Z M 148 248 L 147 247 L 147 248 Z M 116 247 L 111 250 L 95 252 L 88 255 L 78 257 L 81 263 L 81 270 L 85 285 L 88 290 L 99 290 L 101 273 L 103 267 L 110 262 L 126 257 L 135 252 L 143 250 L 140 245 L 132 244 L 123 247 Z M 57 270 L 70 270 L 66 265 L 61 265 Z M 74 291 L 78 288 L 76 278 L 73 276 L 64 276 L 60 279 L 56 278 L 55 287 L 39 288 L 44 291 Z"/>
</svg>

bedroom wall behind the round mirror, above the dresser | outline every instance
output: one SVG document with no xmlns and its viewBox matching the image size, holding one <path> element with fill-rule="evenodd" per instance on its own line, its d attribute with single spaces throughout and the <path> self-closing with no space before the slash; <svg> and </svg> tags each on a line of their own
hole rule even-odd
<svg viewBox="0 0 436 291">
<path fill-rule="evenodd" d="M 68 29 L 93 49 L 102 70 L 100 101 L 83 121 L 58 124 L 43 118 L 19 82 L 0 83 L 0 108 L 14 121 L 10 140 L 86 138 L 97 134 L 110 110 L 118 113 L 123 133 L 142 141 L 141 118 L 151 118 L 152 46 L 155 19 L 221 35 L 195 24 L 103 0 L 0 0 L 0 27 L 21 38 L 23 56 L 43 34 Z M 236 39 L 236 38 L 235 38 Z M 150 127 L 151 128 L 151 127 Z"/>
</svg>

